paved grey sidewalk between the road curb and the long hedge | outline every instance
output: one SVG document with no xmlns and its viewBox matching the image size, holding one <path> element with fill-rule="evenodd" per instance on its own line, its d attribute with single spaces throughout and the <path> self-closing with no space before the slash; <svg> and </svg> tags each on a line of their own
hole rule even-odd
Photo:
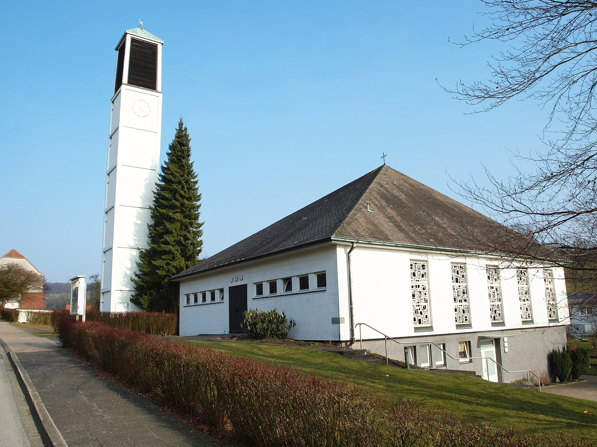
<svg viewBox="0 0 597 447">
<path fill-rule="evenodd" d="M 4 321 L 0 321 L 0 339 L 19 356 L 69 447 L 218 445 L 136 393 L 99 377 L 54 340 Z"/>
</svg>

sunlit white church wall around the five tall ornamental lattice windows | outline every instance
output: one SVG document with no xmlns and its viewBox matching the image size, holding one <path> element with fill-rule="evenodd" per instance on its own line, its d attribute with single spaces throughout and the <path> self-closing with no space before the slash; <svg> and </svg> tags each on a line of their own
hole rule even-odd
<svg viewBox="0 0 597 447">
<path fill-rule="evenodd" d="M 346 251 L 338 246 L 337 262 L 340 281 L 340 315 L 348 316 Z M 428 267 L 430 319 L 426 328 L 415 328 L 411 298 L 410 260 L 424 260 Z M 547 320 L 547 307 L 542 269 L 531 269 L 530 288 L 533 322 L 522 324 L 518 283 L 514 268 L 500 260 L 475 256 L 450 256 L 434 252 L 416 252 L 375 246 L 359 246 L 352 252 L 352 292 L 355 324 L 362 322 L 391 337 L 413 337 L 427 334 L 457 334 L 499 331 L 522 327 L 545 327 L 568 323 L 568 309 L 563 269 L 553 268 L 559 321 Z M 470 324 L 457 325 L 451 263 L 466 265 Z M 503 322 L 493 322 L 487 283 L 487 265 L 500 266 L 500 293 Z M 342 328 L 342 339 L 349 339 L 349 319 Z M 362 327 L 365 338 L 383 337 Z M 359 329 L 355 330 L 359 339 Z"/>
</svg>

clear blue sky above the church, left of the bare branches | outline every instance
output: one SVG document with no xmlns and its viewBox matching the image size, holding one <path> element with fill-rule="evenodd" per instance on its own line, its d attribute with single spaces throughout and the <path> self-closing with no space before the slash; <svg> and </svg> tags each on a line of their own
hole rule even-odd
<svg viewBox="0 0 597 447">
<path fill-rule="evenodd" d="M 0 252 L 50 281 L 100 271 L 115 45 L 165 41 L 162 159 L 180 116 L 215 254 L 381 164 L 460 200 L 450 176 L 512 173 L 546 112 L 490 113 L 441 86 L 485 79 L 494 43 L 460 48 L 478 0 L 10 2 L 2 6 Z M 503 48 L 502 48 L 503 49 Z M 452 185 L 454 187 L 454 185 Z"/>
</svg>

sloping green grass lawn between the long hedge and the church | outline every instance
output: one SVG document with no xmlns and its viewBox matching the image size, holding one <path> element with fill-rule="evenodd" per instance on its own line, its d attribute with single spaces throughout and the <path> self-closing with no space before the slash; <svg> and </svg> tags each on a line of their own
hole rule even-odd
<svg viewBox="0 0 597 447">
<path fill-rule="evenodd" d="M 315 349 L 235 342 L 201 344 L 261 362 L 297 367 L 321 378 L 362 384 L 384 399 L 424 401 L 466 420 L 496 421 L 533 432 L 576 432 L 597 439 L 597 402 L 491 383 L 467 374 L 409 371 L 369 364 Z M 588 413 L 584 413 L 588 411 Z"/>
</svg>

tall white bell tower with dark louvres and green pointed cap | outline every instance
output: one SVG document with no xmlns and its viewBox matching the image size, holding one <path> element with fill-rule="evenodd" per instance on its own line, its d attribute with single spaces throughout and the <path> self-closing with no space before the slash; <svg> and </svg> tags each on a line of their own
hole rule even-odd
<svg viewBox="0 0 597 447">
<path fill-rule="evenodd" d="M 101 303 L 104 312 L 140 311 L 130 302 L 139 250 L 147 248 L 149 206 L 158 180 L 162 129 L 162 44 L 143 27 L 116 45 L 104 203 Z"/>
</svg>

